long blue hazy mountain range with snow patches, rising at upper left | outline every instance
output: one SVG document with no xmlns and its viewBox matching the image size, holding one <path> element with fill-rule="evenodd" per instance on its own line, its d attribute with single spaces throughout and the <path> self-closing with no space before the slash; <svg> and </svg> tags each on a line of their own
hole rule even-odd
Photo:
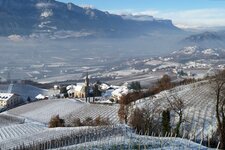
<svg viewBox="0 0 225 150">
<path fill-rule="evenodd" d="M 130 36 L 177 32 L 171 20 L 133 19 L 55 0 L 0 0 L 0 35 Z"/>
</svg>

